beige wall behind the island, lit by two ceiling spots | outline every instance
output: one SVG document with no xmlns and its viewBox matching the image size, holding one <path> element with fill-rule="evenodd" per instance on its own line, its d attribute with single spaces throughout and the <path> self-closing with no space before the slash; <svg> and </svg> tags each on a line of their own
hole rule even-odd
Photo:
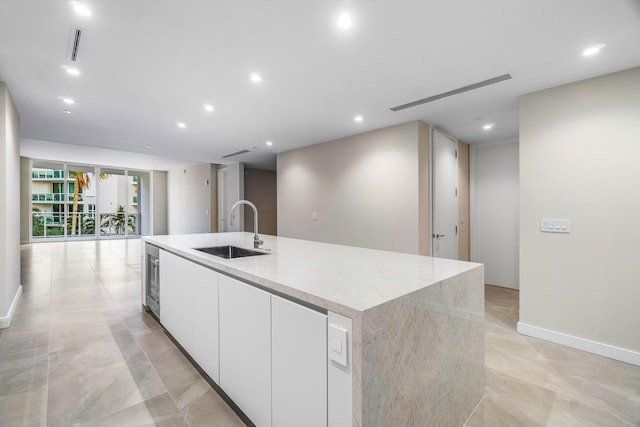
<svg viewBox="0 0 640 427">
<path fill-rule="evenodd" d="M 410 122 L 278 154 L 278 235 L 420 253 L 421 131 L 428 127 Z"/>
</svg>

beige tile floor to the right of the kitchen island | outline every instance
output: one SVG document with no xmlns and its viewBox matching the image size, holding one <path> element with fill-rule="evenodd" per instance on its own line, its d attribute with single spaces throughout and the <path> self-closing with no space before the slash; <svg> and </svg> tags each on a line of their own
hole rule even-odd
<svg viewBox="0 0 640 427">
<path fill-rule="evenodd" d="M 466 426 L 640 426 L 640 367 L 520 335 L 518 291 L 485 287 L 486 394 Z"/>
</svg>

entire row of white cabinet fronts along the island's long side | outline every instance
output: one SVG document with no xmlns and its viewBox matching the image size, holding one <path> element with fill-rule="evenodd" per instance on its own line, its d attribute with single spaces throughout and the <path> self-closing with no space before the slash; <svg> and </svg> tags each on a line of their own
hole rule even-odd
<svg viewBox="0 0 640 427">
<path fill-rule="evenodd" d="M 351 361 L 328 361 L 327 315 L 164 250 L 160 304 L 162 325 L 257 426 L 350 425 Z"/>
</svg>

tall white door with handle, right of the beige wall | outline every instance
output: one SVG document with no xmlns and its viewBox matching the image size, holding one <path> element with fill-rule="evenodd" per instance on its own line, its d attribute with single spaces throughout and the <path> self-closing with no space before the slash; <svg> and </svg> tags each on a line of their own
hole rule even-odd
<svg viewBox="0 0 640 427">
<path fill-rule="evenodd" d="M 433 130 L 431 255 L 458 259 L 458 142 Z"/>
</svg>

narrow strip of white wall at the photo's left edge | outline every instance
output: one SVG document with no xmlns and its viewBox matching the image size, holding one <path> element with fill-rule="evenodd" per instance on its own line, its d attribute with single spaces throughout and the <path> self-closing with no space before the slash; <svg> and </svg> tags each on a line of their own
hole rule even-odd
<svg viewBox="0 0 640 427">
<path fill-rule="evenodd" d="M 0 82 L 0 328 L 11 323 L 20 297 L 20 119 Z"/>
</svg>

